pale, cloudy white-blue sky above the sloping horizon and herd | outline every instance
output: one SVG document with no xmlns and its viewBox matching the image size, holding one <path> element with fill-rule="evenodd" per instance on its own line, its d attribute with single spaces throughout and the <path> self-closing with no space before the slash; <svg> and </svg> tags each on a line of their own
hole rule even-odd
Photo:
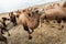
<svg viewBox="0 0 66 44">
<path fill-rule="evenodd" d="M 0 13 L 61 0 L 0 0 Z"/>
</svg>

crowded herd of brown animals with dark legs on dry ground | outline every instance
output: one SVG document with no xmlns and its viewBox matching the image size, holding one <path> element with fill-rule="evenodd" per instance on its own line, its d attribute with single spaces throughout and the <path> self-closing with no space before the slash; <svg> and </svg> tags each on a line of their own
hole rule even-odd
<svg viewBox="0 0 66 44">
<path fill-rule="evenodd" d="M 44 9 L 31 8 L 12 11 L 9 13 L 9 18 L 0 18 L 0 41 L 3 41 L 6 44 L 8 44 L 7 37 L 2 35 L 4 32 L 8 32 L 10 36 L 10 33 L 7 30 L 6 21 L 11 21 L 14 26 L 18 24 L 16 21 L 19 21 L 24 31 L 29 33 L 29 40 L 32 40 L 31 34 L 34 32 L 34 29 L 36 29 L 38 25 L 42 25 L 44 20 L 48 23 L 50 20 L 54 20 L 54 23 L 56 21 L 59 25 L 62 21 L 66 22 L 66 1 L 63 3 L 56 2 L 47 4 L 44 7 Z M 62 25 L 62 28 L 64 28 L 64 25 Z M 31 29 L 31 31 L 29 29 Z"/>
</svg>

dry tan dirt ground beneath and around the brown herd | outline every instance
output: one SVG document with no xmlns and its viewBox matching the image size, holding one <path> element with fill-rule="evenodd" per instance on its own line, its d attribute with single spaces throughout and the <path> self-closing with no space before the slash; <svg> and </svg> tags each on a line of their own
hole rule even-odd
<svg viewBox="0 0 66 44">
<path fill-rule="evenodd" d="M 8 13 L 0 14 L 1 16 L 9 16 Z M 23 30 L 21 24 L 13 26 L 10 21 L 8 21 L 7 25 L 10 36 L 8 34 L 3 34 L 8 38 L 8 44 L 66 44 L 66 23 L 62 23 L 64 28 L 62 30 L 57 23 L 46 23 L 42 24 L 42 28 L 35 29 L 33 32 L 32 40 L 29 40 L 29 34 Z M 55 26 L 55 28 L 52 28 Z M 1 44 L 1 42 L 0 42 Z M 3 44 L 3 43 L 2 43 Z"/>
</svg>

